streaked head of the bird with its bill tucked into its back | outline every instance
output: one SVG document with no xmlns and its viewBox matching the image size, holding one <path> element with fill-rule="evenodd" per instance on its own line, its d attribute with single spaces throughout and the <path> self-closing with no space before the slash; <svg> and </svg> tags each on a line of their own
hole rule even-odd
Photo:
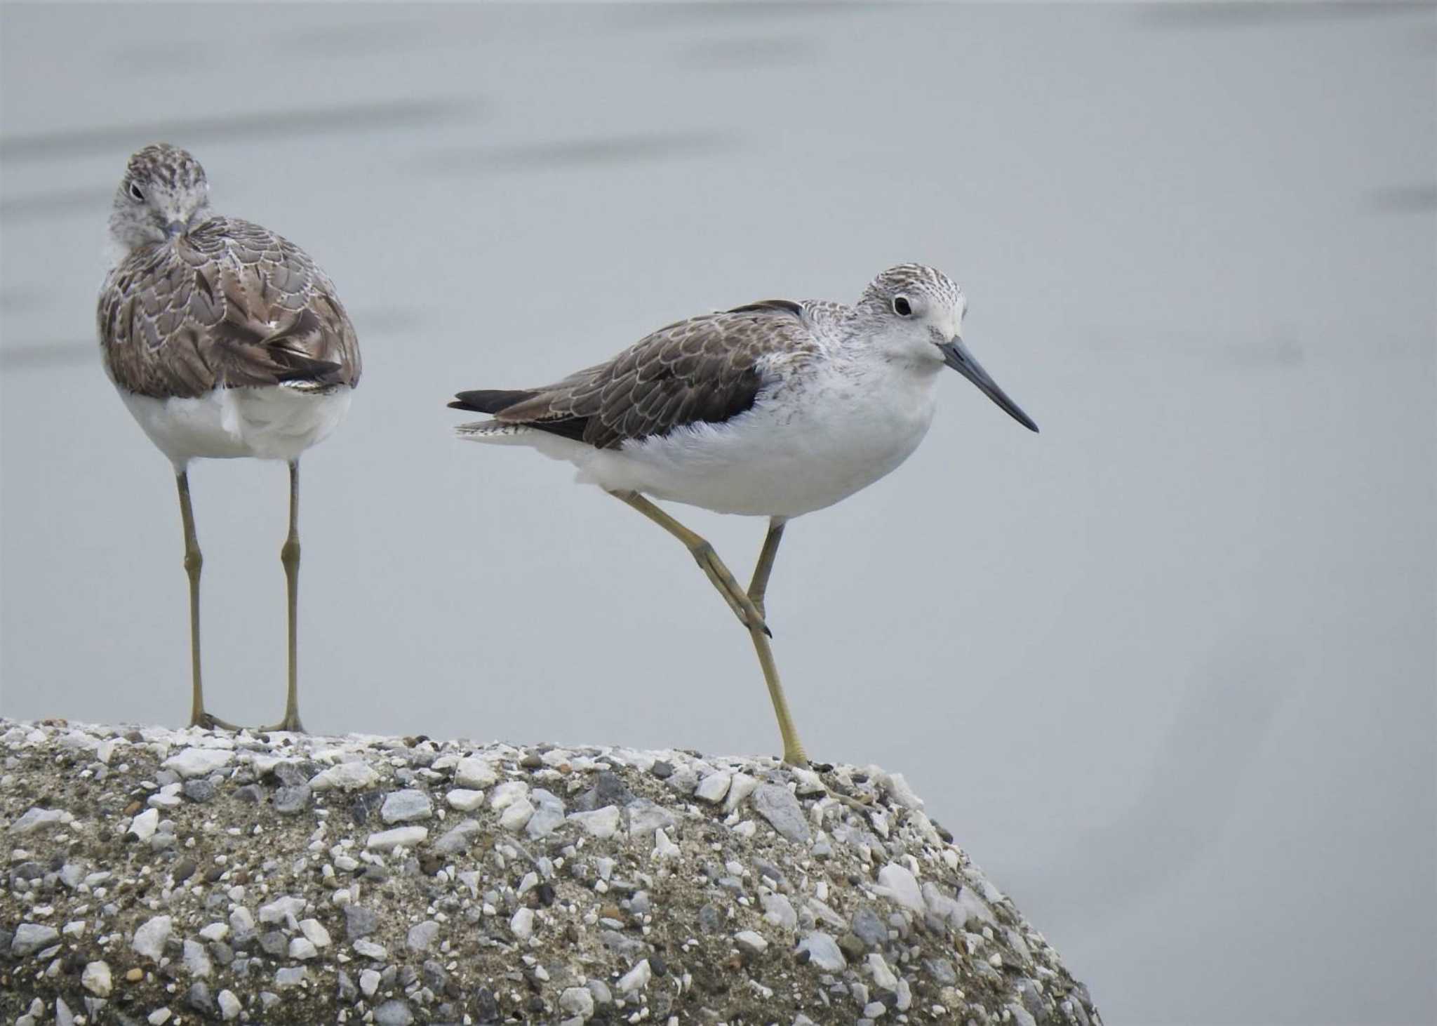
<svg viewBox="0 0 1437 1026">
<path fill-rule="evenodd" d="M 157 142 L 137 151 L 109 211 L 109 237 L 124 250 L 165 243 L 210 216 L 210 182 L 200 161 Z"/>
</svg>

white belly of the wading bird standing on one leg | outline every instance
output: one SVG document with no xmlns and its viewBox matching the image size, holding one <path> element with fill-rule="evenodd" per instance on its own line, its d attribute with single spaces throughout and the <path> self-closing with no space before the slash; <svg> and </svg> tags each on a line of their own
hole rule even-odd
<svg viewBox="0 0 1437 1026">
<path fill-rule="evenodd" d="M 795 517 L 832 506 L 901 464 L 933 422 L 931 389 L 894 402 L 861 389 L 815 389 L 759 404 L 723 424 L 591 450 L 579 480 L 717 513 Z"/>
</svg>

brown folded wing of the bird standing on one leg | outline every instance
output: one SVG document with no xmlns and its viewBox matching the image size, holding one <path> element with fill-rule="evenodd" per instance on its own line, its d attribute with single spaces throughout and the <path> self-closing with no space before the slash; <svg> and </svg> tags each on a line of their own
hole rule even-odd
<svg viewBox="0 0 1437 1026">
<path fill-rule="evenodd" d="M 816 345 L 802 308 L 766 300 L 660 328 L 614 359 L 529 389 L 460 392 L 451 407 L 494 414 L 615 448 L 688 424 L 720 424 L 752 408 L 776 358 L 803 359 Z"/>
</svg>

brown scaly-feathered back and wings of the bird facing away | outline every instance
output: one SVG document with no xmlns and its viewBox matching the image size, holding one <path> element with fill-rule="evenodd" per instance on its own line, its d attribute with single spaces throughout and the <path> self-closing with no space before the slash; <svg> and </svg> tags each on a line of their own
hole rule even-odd
<svg viewBox="0 0 1437 1026">
<path fill-rule="evenodd" d="M 106 279 L 98 316 L 111 376 L 139 395 L 359 382 L 359 341 L 333 283 L 249 221 L 216 217 L 132 253 Z"/>
</svg>

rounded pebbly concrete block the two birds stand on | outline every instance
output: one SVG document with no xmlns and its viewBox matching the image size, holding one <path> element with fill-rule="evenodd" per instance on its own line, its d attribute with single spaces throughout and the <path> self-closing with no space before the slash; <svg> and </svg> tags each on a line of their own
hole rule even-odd
<svg viewBox="0 0 1437 1026">
<path fill-rule="evenodd" d="M 877 766 L 0 720 L 0 1022 L 1101 1025 Z"/>
</svg>

